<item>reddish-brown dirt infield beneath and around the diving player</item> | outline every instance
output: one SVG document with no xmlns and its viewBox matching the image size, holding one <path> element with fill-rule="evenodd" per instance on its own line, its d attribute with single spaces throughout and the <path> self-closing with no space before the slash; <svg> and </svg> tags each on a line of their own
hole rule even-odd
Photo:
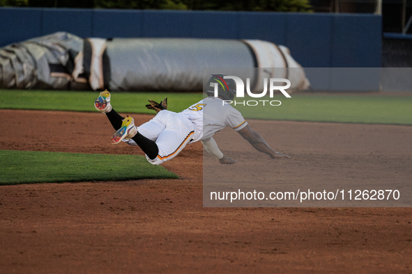
<svg viewBox="0 0 412 274">
<path fill-rule="evenodd" d="M 142 154 L 111 145 L 101 113 L 0 115 L 2 150 Z M 324 175 L 412 181 L 412 127 L 251 125 L 292 156 L 262 158 L 280 180 L 316 165 Z M 228 172 L 259 154 L 240 136 L 216 139 L 239 160 Z M 195 143 L 164 164 L 179 180 L 1 186 L 0 273 L 412 273 L 410 208 L 204 208 L 202 163 Z"/>
</svg>

